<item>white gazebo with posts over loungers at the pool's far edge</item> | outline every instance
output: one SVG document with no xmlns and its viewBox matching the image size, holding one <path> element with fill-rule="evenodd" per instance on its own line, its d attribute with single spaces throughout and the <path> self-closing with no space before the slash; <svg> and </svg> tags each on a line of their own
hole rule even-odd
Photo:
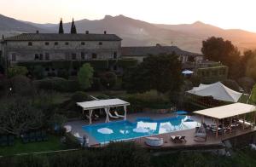
<svg viewBox="0 0 256 167">
<path fill-rule="evenodd" d="M 125 111 L 124 119 L 126 120 L 127 106 L 129 106 L 130 103 L 126 101 L 122 101 L 120 99 L 108 99 L 108 100 L 77 102 L 77 105 L 83 108 L 83 113 L 84 111 L 89 111 L 89 121 L 91 124 L 91 115 L 93 110 L 101 109 L 101 108 L 104 108 L 106 112 L 106 123 L 109 122 L 109 110 L 111 107 L 124 107 L 124 111 Z"/>
</svg>

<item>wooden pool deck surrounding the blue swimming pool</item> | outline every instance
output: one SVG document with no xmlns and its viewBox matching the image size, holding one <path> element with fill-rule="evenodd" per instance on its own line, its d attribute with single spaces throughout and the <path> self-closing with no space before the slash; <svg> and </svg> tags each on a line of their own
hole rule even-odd
<svg viewBox="0 0 256 167">
<path fill-rule="evenodd" d="M 128 114 L 127 120 L 134 122 L 137 118 L 160 119 L 160 118 L 170 118 L 175 115 L 176 113 L 156 114 L 156 113 L 148 113 L 148 112 L 139 112 L 139 113 Z M 195 120 L 196 122 L 201 122 L 201 118 L 199 117 L 192 116 L 192 119 Z M 110 118 L 110 120 L 116 121 L 116 120 L 122 120 L 122 118 L 120 119 Z M 105 119 L 102 118 L 98 121 L 94 121 L 93 124 L 101 124 L 104 122 L 105 122 Z M 212 119 L 206 119 L 205 122 L 207 124 L 212 124 Z M 88 121 L 79 120 L 79 121 L 68 122 L 67 124 L 72 126 L 73 135 L 76 133 L 78 133 L 80 136 L 86 135 L 89 137 L 90 146 L 92 147 L 100 146 L 100 144 L 96 141 L 95 138 L 87 134 L 86 131 L 82 129 L 82 126 L 89 124 Z M 135 141 L 137 144 L 141 145 L 142 147 L 146 147 L 150 149 L 159 149 L 159 148 L 177 149 L 177 148 L 183 148 L 183 147 L 187 147 L 187 148 L 224 147 L 223 141 L 236 137 L 238 135 L 244 135 L 244 134 L 255 132 L 255 131 L 256 131 L 256 127 L 254 127 L 253 129 L 246 129 L 246 130 L 242 130 L 241 128 L 239 128 L 236 131 L 233 130 L 231 133 L 227 132 L 227 133 L 224 133 L 224 135 L 218 135 L 218 137 L 216 137 L 215 134 L 212 134 L 212 132 L 207 132 L 207 141 L 202 141 L 202 142 L 195 141 L 195 129 L 180 130 L 180 131 L 175 131 L 175 132 L 170 132 L 170 133 L 160 134 L 160 135 L 152 135 L 152 136 L 160 137 L 164 139 L 164 145 L 162 147 L 148 147 L 145 144 L 146 137 L 137 138 L 133 141 Z M 171 135 L 184 135 L 186 136 L 185 137 L 186 142 L 174 143 L 173 141 L 171 141 Z"/>
</svg>

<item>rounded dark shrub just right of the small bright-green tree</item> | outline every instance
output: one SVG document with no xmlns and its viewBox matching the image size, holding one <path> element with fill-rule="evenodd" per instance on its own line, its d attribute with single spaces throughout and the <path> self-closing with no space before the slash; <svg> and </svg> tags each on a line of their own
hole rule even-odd
<svg viewBox="0 0 256 167">
<path fill-rule="evenodd" d="M 117 81 L 117 76 L 114 72 L 104 72 L 100 74 L 100 78 L 102 85 L 107 89 L 113 88 Z"/>
</svg>

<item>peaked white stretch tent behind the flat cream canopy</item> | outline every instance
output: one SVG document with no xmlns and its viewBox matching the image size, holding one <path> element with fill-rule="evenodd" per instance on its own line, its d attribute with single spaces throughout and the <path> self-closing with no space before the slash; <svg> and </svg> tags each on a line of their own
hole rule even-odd
<svg viewBox="0 0 256 167">
<path fill-rule="evenodd" d="M 199 87 L 187 91 L 189 94 L 200 96 L 212 96 L 213 99 L 219 101 L 237 102 L 241 93 L 226 87 L 223 83 L 200 84 Z"/>
</svg>

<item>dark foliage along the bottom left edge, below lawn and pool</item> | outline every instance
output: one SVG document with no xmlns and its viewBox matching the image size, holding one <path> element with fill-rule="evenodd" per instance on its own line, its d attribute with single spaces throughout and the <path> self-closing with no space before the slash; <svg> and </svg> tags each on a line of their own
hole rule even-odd
<svg viewBox="0 0 256 167">
<path fill-rule="evenodd" d="M 67 153 L 29 155 L 3 158 L 0 166 L 9 167 L 150 167 L 150 156 L 130 142 L 111 143 L 96 150 L 81 150 Z"/>
</svg>

